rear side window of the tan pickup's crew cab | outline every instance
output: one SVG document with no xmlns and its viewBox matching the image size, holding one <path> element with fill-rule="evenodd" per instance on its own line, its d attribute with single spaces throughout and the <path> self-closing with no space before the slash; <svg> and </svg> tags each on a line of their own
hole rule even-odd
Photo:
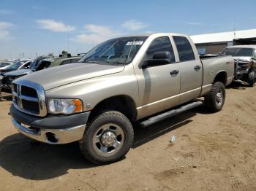
<svg viewBox="0 0 256 191">
<path fill-rule="evenodd" d="M 173 36 L 174 42 L 178 50 L 179 60 L 192 61 L 195 60 L 195 55 L 192 50 L 191 44 L 188 39 L 184 36 Z"/>
</svg>

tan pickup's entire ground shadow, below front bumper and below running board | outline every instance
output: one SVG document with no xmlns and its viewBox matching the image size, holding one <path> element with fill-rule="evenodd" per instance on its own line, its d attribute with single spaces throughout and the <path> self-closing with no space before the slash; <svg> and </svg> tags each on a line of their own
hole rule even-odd
<svg viewBox="0 0 256 191">
<path fill-rule="evenodd" d="M 184 112 L 174 118 L 158 122 L 148 128 L 135 125 L 133 149 L 148 141 L 181 128 L 192 120 L 197 113 L 207 114 L 203 107 Z M 24 179 L 45 180 L 67 174 L 69 169 L 94 168 L 80 152 L 78 143 L 50 145 L 40 143 L 20 133 L 7 136 L 0 142 L 0 165 L 13 176 Z"/>
</svg>

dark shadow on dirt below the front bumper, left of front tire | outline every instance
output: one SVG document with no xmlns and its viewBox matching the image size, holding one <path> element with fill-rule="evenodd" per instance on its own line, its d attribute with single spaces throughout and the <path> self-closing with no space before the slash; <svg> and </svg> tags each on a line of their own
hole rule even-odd
<svg viewBox="0 0 256 191">
<path fill-rule="evenodd" d="M 26 138 L 20 133 L 0 142 L 0 165 L 13 176 L 24 179 L 52 179 L 69 169 L 94 167 L 83 158 L 78 143 L 50 145 Z"/>
</svg>

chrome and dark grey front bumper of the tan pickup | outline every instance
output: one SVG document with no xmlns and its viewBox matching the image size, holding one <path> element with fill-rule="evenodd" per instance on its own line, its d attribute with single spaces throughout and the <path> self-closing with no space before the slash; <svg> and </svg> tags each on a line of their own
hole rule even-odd
<svg viewBox="0 0 256 191">
<path fill-rule="evenodd" d="M 83 138 L 90 112 L 34 117 L 18 111 L 12 105 L 10 114 L 13 125 L 23 135 L 48 144 L 67 144 Z"/>
</svg>

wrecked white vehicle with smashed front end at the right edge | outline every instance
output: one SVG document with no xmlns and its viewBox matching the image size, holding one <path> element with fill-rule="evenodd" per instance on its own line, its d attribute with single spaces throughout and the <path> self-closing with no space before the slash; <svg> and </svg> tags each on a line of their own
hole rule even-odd
<svg viewBox="0 0 256 191">
<path fill-rule="evenodd" d="M 223 55 L 232 55 L 235 60 L 234 79 L 248 82 L 253 86 L 256 82 L 256 45 L 238 45 L 226 47 Z"/>
</svg>

